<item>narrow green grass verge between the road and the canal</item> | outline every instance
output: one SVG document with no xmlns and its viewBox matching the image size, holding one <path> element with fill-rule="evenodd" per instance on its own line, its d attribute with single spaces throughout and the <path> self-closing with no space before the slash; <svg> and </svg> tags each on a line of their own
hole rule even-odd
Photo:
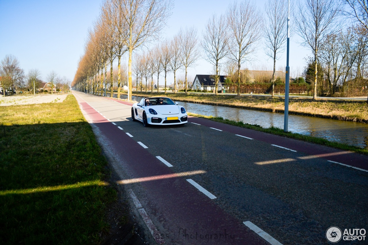
<svg viewBox="0 0 368 245">
<path fill-rule="evenodd" d="M 283 129 L 276 128 L 276 127 L 263 128 L 263 127 L 261 127 L 259 125 L 256 125 L 256 124 L 247 124 L 247 123 L 243 123 L 242 121 L 237 122 L 237 121 L 233 121 L 233 120 L 229 120 L 229 119 L 224 119 L 222 117 L 203 116 L 203 115 L 199 115 L 199 114 L 195 114 L 195 113 L 188 113 L 188 115 L 193 116 L 193 117 L 205 118 L 205 119 L 215 121 L 215 122 L 219 122 L 219 123 L 226 123 L 226 124 L 234 125 L 234 126 L 237 126 L 237 127 L 249 128 L 249 129 L 253 129 L 253 130 L 256 130 L 256 131 L 260 131 L 260 132 L 265 132 L 265 133 L 269 133 L 269 134 L 284 136 L 284 137 L 287 137 L 287 138 L 299 139 L 301 141 L 311 142 L 311 143 L 315 143 L 315 144 L 319 144 L 319 145 L 330 146 L 330 147 L 337 148 L 337 149 L 340 149 L 340 150 L 350 150 L 352 152 L 368 155 L 368 150 L 367 149 L 359 148 L 357 146 L 346 145 L 346 144 L 343 144 L 343 143 L 332 142 L 332 141 L 328 141 L 327 139 L 322 139 L 322 138 L 318 138 L 318 137 L 314 137 L 314 136 L 302 135 L 302 134 L 293 133 L 293 132 L 284 132 Z"/>
</svg>

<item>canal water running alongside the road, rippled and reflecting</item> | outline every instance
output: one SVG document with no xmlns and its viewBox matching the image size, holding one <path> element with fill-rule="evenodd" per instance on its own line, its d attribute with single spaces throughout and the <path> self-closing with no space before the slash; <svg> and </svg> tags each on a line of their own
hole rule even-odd
<svg viewBox="0 0 368 245">
<path fill-rule="evenodd" d="M 116 97 L 116 95 L 114 96 Z M 122 95 L 121 98 L 126 99 L 127 96 Z M 142 97 L 133 97 L 132 99 L 140 101 Z M 243 121 L 248 124 L 258 124 L 263 128 L 284 128 L 283 113 L 188 102 L 178 103 L 191 113 L 223 117 L 229 120 Z M 365 123 L 289 114 L 288 129 L 291 132 L 311 135 L 328 139 L 329 141 L 346 143 L 348 145 L 368 149 L 368 124 Z"/>
</svg>

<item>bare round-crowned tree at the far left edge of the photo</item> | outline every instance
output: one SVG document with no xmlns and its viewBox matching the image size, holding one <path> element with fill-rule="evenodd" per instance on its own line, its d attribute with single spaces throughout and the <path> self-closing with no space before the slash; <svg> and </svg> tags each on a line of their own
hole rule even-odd
<svg viewBox="0 0 368 245">
<path fill-rule="evenodd" d="M 15 88 L 17 85 L 19 87 L 24 80 L 24 71 L 20 68 L 18 59 L 11 54 L 1 60 L 0 75 L 4 96 L 6 96 L 7 88 Z"/>
</svg>

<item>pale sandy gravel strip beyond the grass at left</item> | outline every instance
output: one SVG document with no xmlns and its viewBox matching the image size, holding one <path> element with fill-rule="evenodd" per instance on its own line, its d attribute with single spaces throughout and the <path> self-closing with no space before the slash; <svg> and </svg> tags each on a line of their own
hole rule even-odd
<svg viewBox="0 0 368 245">
<path fill-rule="evenodd" d="M 46 95 L 11 95 L 0 97 L 0 106 L 14 106 L 20 104 L 42 104 L 42 103 L 60 103 L 65 100 L 69 93 L 57 93 Z"/>
</svg>

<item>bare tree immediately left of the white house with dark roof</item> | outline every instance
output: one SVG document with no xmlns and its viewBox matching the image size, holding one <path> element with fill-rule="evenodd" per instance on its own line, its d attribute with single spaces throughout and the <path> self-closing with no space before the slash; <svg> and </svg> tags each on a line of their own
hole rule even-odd
<svg viewBox="0 0 368 245">
<path fill-rule="evenodd" d="M 190 28 L 185 28 L 185 30 L 180 29 L 179 31 L 179 41 L 180 41 L 180 49 L 181 56 L 180 62 L 185 68 L 185 94 L 188 93 L 188 67 L 192 67 L 195 64 L 195 61 L 199 58 L 199 49 L 198 49 L 198 36 L 197 29 L 192 26 Z"/>
</svg>

